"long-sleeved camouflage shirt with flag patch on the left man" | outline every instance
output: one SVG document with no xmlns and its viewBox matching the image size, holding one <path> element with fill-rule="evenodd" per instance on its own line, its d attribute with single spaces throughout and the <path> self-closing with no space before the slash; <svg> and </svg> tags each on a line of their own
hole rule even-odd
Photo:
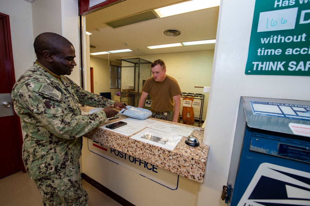
<svg viewBox="0 0 310 206">
<path fill-rule="evenodd" d="M 104 111 L 81 115 L 79 104 L 106 107 L 114 104 L 87 92 L 66 76 L 60 81 L 37 63 L 15 83 L 12 101 L 27 134 L 23 160 L 33 179 L 59 173 L 77 163 L 81 156 L 78 138 L 106 120 Z"/>
</svg>

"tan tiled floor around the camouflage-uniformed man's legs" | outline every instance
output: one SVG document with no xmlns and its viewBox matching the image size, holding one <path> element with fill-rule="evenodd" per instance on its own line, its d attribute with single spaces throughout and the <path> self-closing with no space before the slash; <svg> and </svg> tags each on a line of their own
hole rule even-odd
<svg viewBox="0 0 310 206">
<path fill-rule="evenodd" d="M 89 196 L 89 206 L 122 206 L 103 192 L 82 180 L 83 188 Z M 0 205 L 1 206 L 41 206 L 42 196 L 34 181 L 28 174 L 15 173 L 0 179 Z"/>
</svg>

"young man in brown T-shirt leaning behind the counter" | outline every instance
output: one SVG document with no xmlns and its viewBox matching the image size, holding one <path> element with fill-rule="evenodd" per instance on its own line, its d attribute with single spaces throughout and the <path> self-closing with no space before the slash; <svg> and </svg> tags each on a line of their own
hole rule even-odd
<svg viewBox="0 0 310 206">
<path fill-rule="evenodd" d="M 166 75 L 166 65 L 161 59 L 151 64 L 152 76 L 143 87 L 138 107 L 143 107 L 148 94 L 151 95 L 152 118 L 178 122 L 181 106 L 181 89 L 178 82 Z"/>
</svg>

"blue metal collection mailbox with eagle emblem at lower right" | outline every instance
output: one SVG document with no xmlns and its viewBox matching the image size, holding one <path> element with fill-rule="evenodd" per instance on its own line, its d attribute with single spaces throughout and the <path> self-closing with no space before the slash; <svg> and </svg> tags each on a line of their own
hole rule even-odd
<svg viewBox="0 0 310 206">
<path fill-rule="evenodd" d="M 222 199 L 231 206 L 310 205 L 310 101 L 241 97 Z"/>
</svg>

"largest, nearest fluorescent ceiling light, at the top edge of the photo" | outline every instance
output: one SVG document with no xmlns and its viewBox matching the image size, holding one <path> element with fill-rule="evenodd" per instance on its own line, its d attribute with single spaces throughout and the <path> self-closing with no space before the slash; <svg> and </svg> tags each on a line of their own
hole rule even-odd
<svg viewBox="0 0 310 206">
<path fill-rule="evenodd" d="M 219 6 L 220 0 L 192 0 L 154 9 L 160 18 Z"/>
</svg>

